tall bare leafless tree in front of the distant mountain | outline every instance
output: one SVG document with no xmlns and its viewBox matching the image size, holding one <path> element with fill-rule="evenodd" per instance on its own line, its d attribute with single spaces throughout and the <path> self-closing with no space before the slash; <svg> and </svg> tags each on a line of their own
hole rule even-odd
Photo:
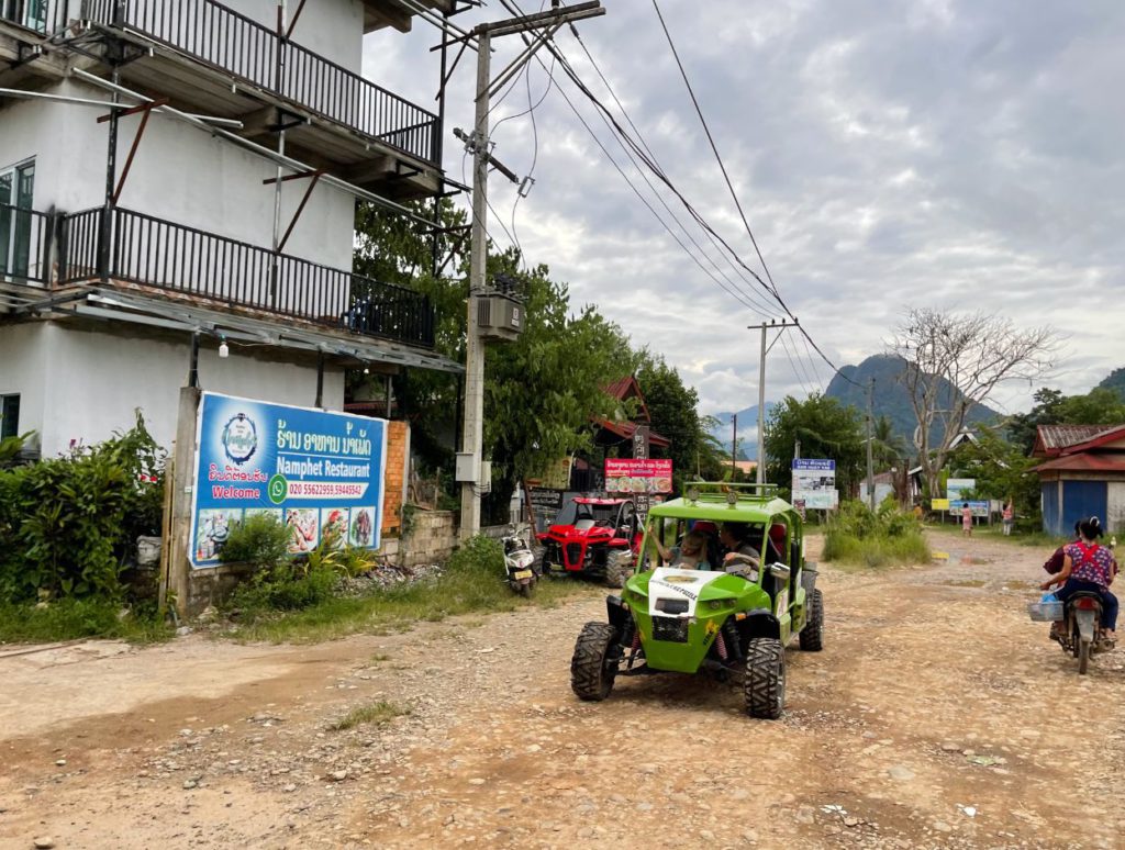
<svg viewBox="0 0 1125 850">
<path fill-rule="evenodd" d="M 914 443 L 932 498 L 940 497 L 938 473 L 972 408 L 1005 381 L 1042 376 L 1052 367 L 1056 347 L 1048 328 L 1020 331 L 999 316 L 929 308 L 907 314 L 888 349 L 907 361 L 899 380 L 918 422 Z M 935 424 L 938 431 L 932 440 Z"/>
</svg>

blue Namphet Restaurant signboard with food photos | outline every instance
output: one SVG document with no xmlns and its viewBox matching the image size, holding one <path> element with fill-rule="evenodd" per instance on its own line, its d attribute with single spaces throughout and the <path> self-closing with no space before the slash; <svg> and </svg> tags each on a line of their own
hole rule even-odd
<svg viewBox="0 0 1125 850">
<path fill-rule="evenodd" d="M 199 406 L 191 564 L 215 567 L 236 523 L 273 516 L 294 554 L 325 535 L 378 549 L 384 419 L 205 392 Z"/>
</svg>

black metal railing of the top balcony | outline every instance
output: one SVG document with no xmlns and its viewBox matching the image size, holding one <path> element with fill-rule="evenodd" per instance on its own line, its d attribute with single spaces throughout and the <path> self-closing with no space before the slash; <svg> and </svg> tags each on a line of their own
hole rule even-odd
<svg viewBox="0 0 1125 850">
<path fill-rule="evenodd" d="M 83 0 L 82 16 L 136 30 L 321 118 L 440 162 L 433 112 L 215 0 Z"/>
</svg>

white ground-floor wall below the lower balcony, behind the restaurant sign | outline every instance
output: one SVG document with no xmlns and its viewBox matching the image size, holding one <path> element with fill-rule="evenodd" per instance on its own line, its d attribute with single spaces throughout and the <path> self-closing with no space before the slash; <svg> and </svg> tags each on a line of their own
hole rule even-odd
<svg viewBox="0 0 1125 850">
<path fill-rule="evenodd" d="M 237 345 L 220 360 L 214 340 L 204 345 L 204 389 L 302 407 L 316 400 L 315 360 L 295 364 Z M 39 432 L 43 456 L 66 451 L 71 441 L 90 445 L 128 428 L 136 408 L 156 441 L 170 447 L 190 351 L 187 334 L 154 333 L 126 323 L 3 327 L 0 392 L 20 394 L 20 429 Z M 326 367 L 325 407 L 343 409 L 343 371 Z"/>
</svg>

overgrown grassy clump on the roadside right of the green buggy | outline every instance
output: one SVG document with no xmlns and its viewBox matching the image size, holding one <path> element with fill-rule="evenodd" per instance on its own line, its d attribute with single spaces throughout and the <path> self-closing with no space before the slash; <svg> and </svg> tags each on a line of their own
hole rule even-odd
<svg viewBox="0 0 1125 850">
<path fill-rule="evenodd" d="M 929 544 L 912 514 L 888 499 L 872 512 L 861 501 L 847 501 L 826 526 L 825 561 L 867 568 L 929 563 Z"/>
</svg>

